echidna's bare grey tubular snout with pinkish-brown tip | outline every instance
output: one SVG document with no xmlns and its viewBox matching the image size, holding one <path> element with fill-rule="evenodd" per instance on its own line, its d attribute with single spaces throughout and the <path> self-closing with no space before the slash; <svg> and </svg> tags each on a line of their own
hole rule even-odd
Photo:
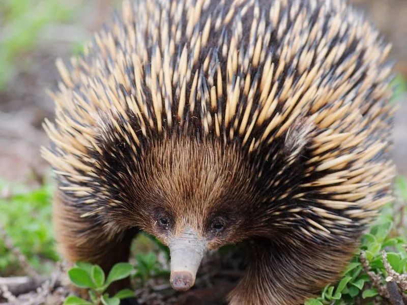
<svg viewBox="0 0 407 305">
<path fill-rule="evenodd" d="M 191 227 L 169 243 L 171 275 L 169 282 L 177 291 L 187 291 L 195 283 L 196 272 L 207 251 L 206 241 Z"/>
</svg>

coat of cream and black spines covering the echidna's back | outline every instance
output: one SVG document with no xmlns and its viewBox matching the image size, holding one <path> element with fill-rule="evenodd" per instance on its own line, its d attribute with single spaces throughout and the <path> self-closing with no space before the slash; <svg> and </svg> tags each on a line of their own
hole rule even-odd
<svg viewBox="0 0 407 305">
<path fill-rule="evenodd" d="M 238 143 L 264 189 L 281 190 L 269 198 L 276 225 L 344 234 L 391 199 L 389 51 L 342 0 L 125 1 L 84 56 L 57 63 L 43 156 L 97 214 L 121 204 L 98 175 L 119 174 L 106 143 L 132 164 L 164 135 Z M 108 148 L 110 159 L 123 153 Z M 295 158 L 282 162 L 281 149 Z"/>
</svg>

